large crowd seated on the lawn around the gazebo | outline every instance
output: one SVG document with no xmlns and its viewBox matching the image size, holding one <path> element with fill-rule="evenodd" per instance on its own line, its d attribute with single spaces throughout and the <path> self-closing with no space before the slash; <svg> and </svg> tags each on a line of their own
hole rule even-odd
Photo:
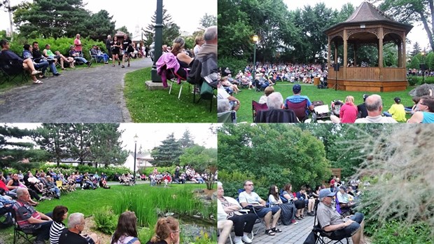
<svg viewBox="0 0 434 244">
<path fill-rule="evenodd" d="M 237 111 L 241 102 L 236 95 L 242 91 L 241 88 L 248 88 L 264 93 L 256 102 L 258 105 L 255 106 L 253 103 L 254 122 L 310 122 L 310 114 L 314 114 L 315 118 L 324 114 L 324 104 L 322 101 L 311 101 L 309 97 L 302 95 L 302 86 L 299 83 L 311 83 L 312 79 L 317 78 L 321 82 L 319 86 L 326 87 L 327 71 L 321 68 L 323 68 L 321 65 L 260 64 L 254 73 L 252 68 L 247 66 L 244 72 L 240 70 L 235 78 L 232 78 L 232 72 L 227 67 L 221 71 L 218 83 L 217 111 L 218 113 Z M 273 86 L 277 81 L 297 82 L 293 85 L 293 94 L 284 99 L 281 93 L 274 93 Z M 362 104 L 355 104 L 354 97 L 349 95 L 344 102 L 340 100 L 331 102 L 331 112 L 328 117 L 332 123 L 434 123 L 432 90 L 421 97 L 412 97 L 412 100 L 414 104 L 405 107 L 400 97 L 395 97 L 394 104 L 386 110 L 380 95 L 365 94 Z M 317 106 L 322 107 L 316 109 Z M 328 109 L 325 113 L 328 113 Z M 412 114 L 408 121 L 406 114 Z"/>
</svg>

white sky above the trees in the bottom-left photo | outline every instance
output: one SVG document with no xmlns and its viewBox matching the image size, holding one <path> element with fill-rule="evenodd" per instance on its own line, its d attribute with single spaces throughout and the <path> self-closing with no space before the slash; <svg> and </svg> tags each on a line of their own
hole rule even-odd
<svg viewBox="0 0 434 244">
<path fill-rule="evenodd" d="M 40 123 L 8 123 L 8 126 L 35 129 Z M 137 134 L 137 151 L 140 146 L 143 151 L 158 147 L 167 135 L 174 133 L 179 140 L 188 129 L 196 144 L 207 148 L 217 148 L 217 135 L 209 130 L 211 123 L 121 123 L 120 130 L 125 130 L 121 140 L 126 150 L 134 151 L 134 135 Z M 29 140 L 26 140 L 29 141 Z"/>
</svg>

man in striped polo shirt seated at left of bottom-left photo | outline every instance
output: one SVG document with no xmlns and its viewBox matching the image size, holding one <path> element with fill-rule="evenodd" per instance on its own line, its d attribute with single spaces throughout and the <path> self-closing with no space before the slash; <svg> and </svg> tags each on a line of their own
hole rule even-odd
<svg viewBox="0 0 434 244">
<path fill-rule="evenodd" d="M 31 230 L 31 233 L 36 234 L 34 243 L 45 243 L 44 240 L 50 238 L 52 219 L 29 205 L 30 194 L 27 189 L 18 187 L 17 198 L 13 210 L 15 211 L 18 226 L 22 229 Z"/>
</svg>

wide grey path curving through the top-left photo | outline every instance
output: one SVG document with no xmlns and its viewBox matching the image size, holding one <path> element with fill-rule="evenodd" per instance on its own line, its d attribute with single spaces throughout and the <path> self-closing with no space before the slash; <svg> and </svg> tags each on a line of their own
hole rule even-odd
<svg viewBox="0 0 434 244">
<path fill-rule="evenodd" d="M 92 65 L 93 66 L 93 65 Z M 151 67 L 149 57 L 131 67 L 95 66 L 67 69 L 41 85 L 20 86 L 0 93 L 0 121 L 8 123 L 132 122 L 123 95 L 124 76 Z"/>
</svg>

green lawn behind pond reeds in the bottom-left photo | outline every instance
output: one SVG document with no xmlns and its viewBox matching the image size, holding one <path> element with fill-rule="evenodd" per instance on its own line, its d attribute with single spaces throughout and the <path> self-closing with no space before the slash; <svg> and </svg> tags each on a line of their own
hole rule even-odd
<svg viewBox="0 0 434 244">
<path fill-rule="evenodd" d="M 98 188 L 96 190 L 80 190 L 69 192 L 68 194 L 62 194 L 61 198 L 52 199 L 50 201 L 43 201 L 37 207 L 39 212 L 51 212 L 57 205 L 65 205 L 69 209 L 69 214 L 73 212 L 82 212 L 85 217 L 94 216 L 96 212 L 101 211 L 107 207 L 113 207 L 123 194 L 132 192 L 137 194 L 137 191 L 158 191 L 158 194 L 165 194 L 167 192 L 173 192 L 173 190 L 189 189 L 205 189 L 205 184 L 170 184 L 169 188 L 164 187 L 151 187 L 149 184 L 137 184 L 133 187 L 127 187 L 123 185 L 111 186 L 111 189 Z M 172 196 L 172 193 L 169 193 Z M 148 204 L 149 205 L 149 204 Z M 154 204 L 154 208 L 164 208 L 164 206 L 158 206 Z M 66 221 L 65 221 L 66 224 Z M 152 232 L 153 228 L 151 228 Z M 94 230 L 92 230 L 94 231 Z M 99 231 L 95 231 L 99 233 Z M 148 231 L 146 231 L 148 232 Z M 13 243 L 13 227 L 8 229 L 0 229 L 0 243 L 1 239 L 5 243 Z M 182 238 L 183 236 L 181 236 Z M 148 240 L 141 240 L 141 243 L 146 243 Z M 105 243 L 104 243 L 105 244 Z"/>
</svg>

